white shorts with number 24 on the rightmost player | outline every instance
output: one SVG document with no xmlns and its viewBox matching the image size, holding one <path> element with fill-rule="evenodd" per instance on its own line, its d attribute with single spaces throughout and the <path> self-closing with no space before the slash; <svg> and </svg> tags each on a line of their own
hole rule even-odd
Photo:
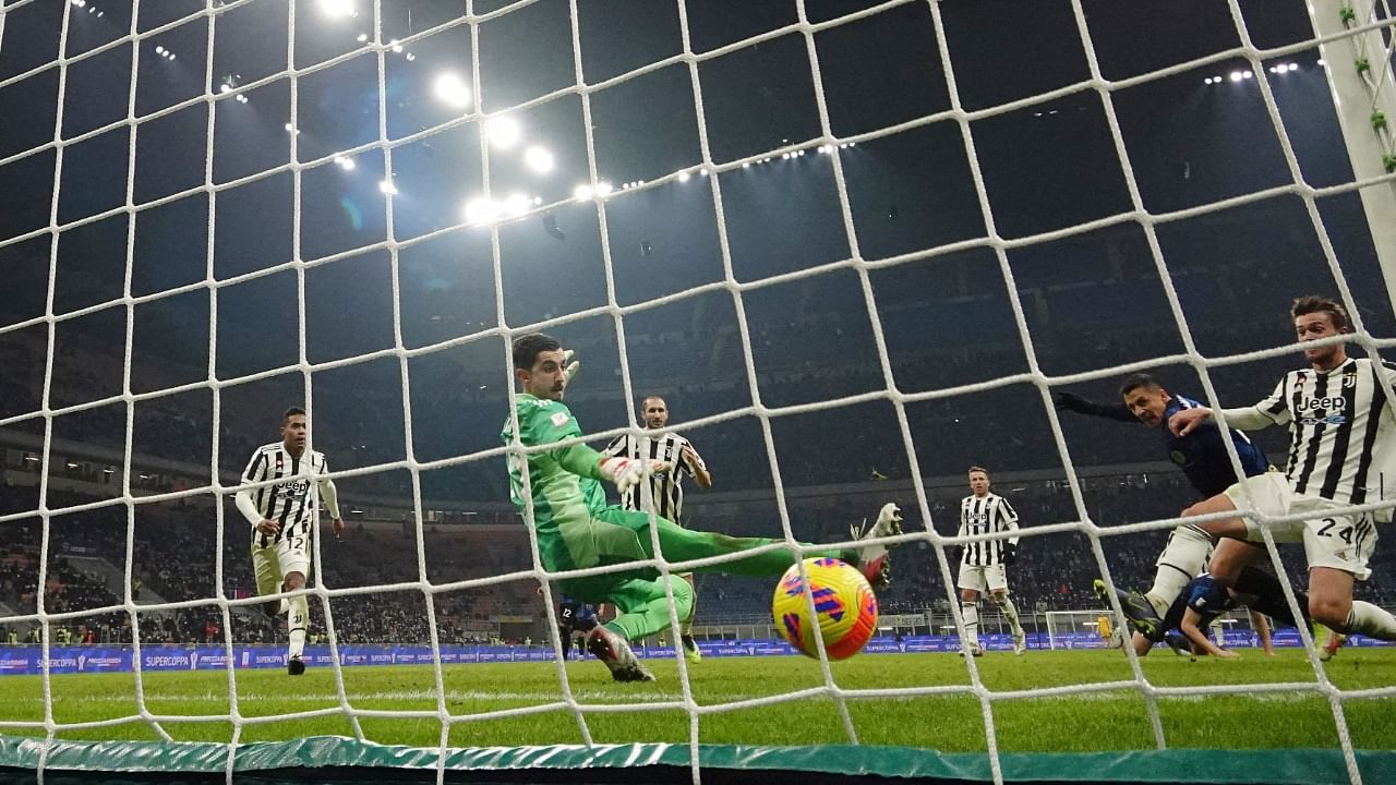
<svg viewBox="0 0 1396 785">
<path fill-rule="evenodd" d="M 1249 492 L 1249 494 L 1248 494 Z M 1300 521 L 1272 524 L 1275 542 L 1302 542 L 1309 568 L 1330 567 L 1365 581 L 1368 559 L 1376 549 L 1376 524 L 1371 513 L 1340 513 L 1332 499 L 1297 494 L 1279 472 L 1247 478 L 1224 492 L 1238 510 L 1255 504 L 1266 515 L 1304 515 Z M 1249 497 L 1248 497 L 1249 496 Z M 1247 542 L 1265 542 L 1261 524 L 1247 518 Z"/>
</svg>

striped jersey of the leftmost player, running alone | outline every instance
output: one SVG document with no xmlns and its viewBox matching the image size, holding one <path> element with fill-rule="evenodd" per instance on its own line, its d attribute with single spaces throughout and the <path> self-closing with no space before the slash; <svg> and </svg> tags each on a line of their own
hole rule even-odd
<svg viewBox="0 0 1396 785">
<path fill-rule="evenodd" d="M 304 535 L 320 520 L 320 496 L 325 496 L 325 508 L 332 518 L 339 517 L 339 503 L 335 483 L 324 478 L 324 453 L 306 450 L 295 457 L 281 441 L 264 444 L 253 453 L 243 471 L 243 485 L 262 480 L 279 480 L 261 487 L 247 487 L 237 492 L 237 508 L 255 527 L 262 518 L 276 521 L 281 534 L 258 534 L 265 546 L 293 535 Z"/>
</svg>

